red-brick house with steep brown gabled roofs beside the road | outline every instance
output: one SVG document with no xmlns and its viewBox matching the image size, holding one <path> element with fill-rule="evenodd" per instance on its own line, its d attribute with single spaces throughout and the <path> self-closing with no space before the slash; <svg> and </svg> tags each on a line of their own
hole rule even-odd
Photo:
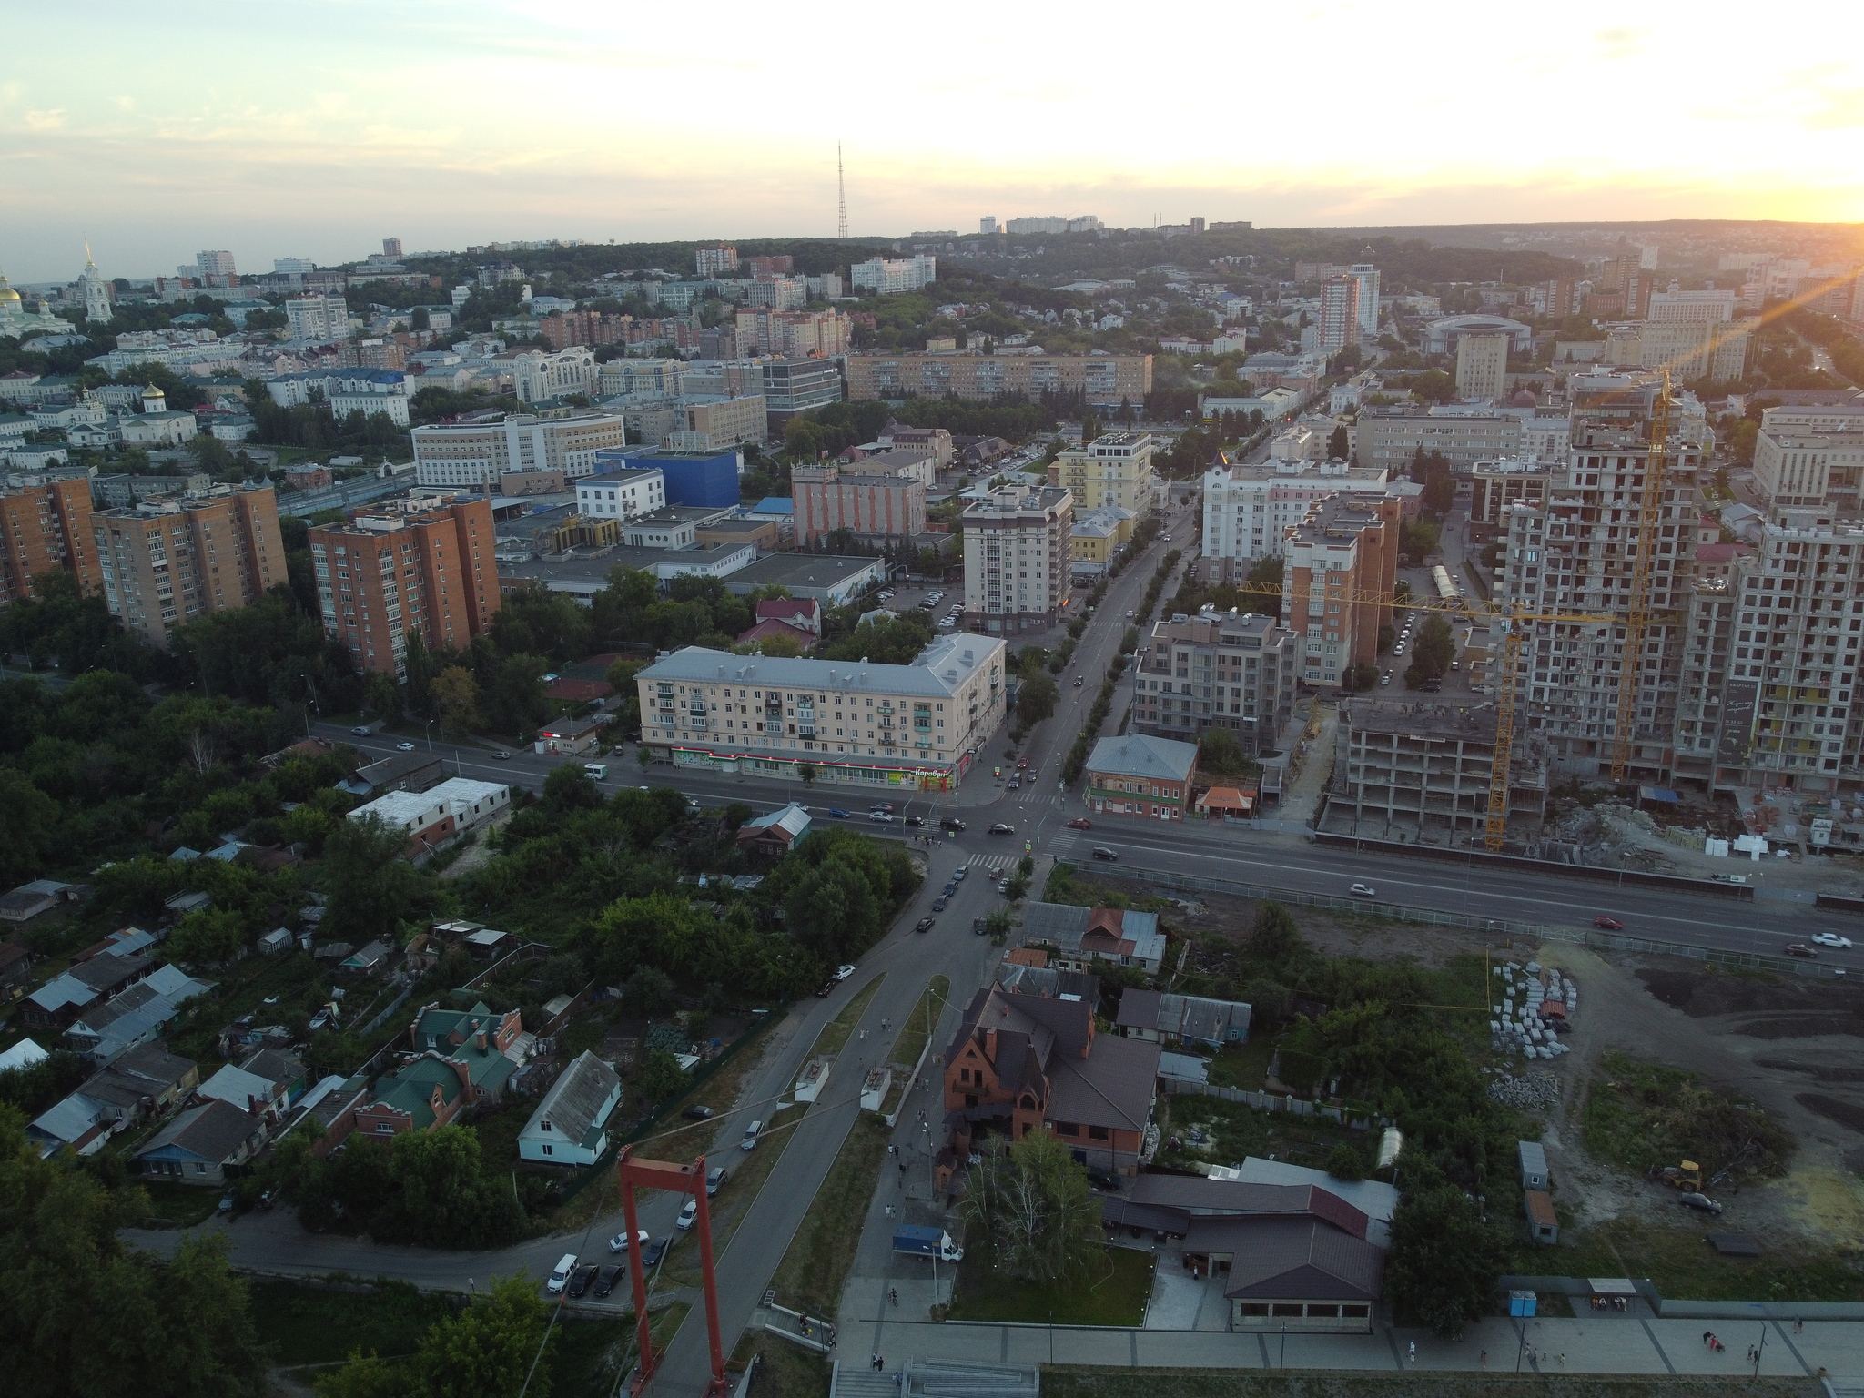
<svg viewBox="0 0 1864 1398">
<path fill-rule="evenodd" d="M 1135 1174 L 1146 1156 L 1158 1059 L 1156 1044 L 1096 1035 L 1089 1001 L 979 990 L 945 1051 L 951 1139 L 936 1163 L 941 1187 L 986 1122 L 1018 1141 L 1051 1131 L 1083 1165 Z"/>
</svg>

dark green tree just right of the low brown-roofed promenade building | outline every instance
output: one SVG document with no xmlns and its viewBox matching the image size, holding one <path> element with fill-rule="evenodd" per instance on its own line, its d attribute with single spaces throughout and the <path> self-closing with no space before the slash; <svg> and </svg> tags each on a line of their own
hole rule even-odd
<svg viewBox="0 0 1864 1398">
<path fill-rule="evenodd" d="M 1392 1213 L 1385 1292 L 1400 1325 L 1456 1340 L 1493 1309 L 1506 1243 L 1474 1199 L 1428 1165 L 1415 1169 L 1432 1182 L 1407 1191 Z"/>
</svg>

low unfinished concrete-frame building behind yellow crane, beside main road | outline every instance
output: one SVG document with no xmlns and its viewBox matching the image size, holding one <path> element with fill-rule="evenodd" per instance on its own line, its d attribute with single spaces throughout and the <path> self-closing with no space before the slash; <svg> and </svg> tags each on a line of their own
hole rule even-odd
<svg viewBox="0 0 1864 1398">
<path fill-rule="evenodd" d="M 1495 772 L 1493 705 L 1350 699 L 1335 729 L 1333 779 L 1320 828 L 1368 839 L 1482 831 Z M 1508 822 L 1538 833 L 1547 816 L 1547 740 L 1523 734 L 1508 762 Z"/>
</svg>

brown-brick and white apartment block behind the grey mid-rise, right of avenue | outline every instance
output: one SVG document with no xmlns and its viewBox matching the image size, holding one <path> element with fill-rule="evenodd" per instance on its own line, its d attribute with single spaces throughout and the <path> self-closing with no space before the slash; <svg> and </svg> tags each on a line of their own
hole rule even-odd
<svg viewBox="0 0 1864 1398">
<path fill-rule="evenodd" d="M 1281 621 L 1301 641 L 1299 678 L 1310 688 L 1377 664 L 1398 583 L 1398 514 L 1396 500 L 1327 496 L 1288 531 Z"/>
</svg>

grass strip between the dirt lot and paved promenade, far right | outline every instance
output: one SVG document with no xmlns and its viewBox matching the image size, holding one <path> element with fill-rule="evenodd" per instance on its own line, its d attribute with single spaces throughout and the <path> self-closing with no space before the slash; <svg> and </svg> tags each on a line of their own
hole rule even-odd
<svg viewBox="0 0 1864 1398">
<path fill-rule="evenodd" d="M 1864 1273 L 1840 1249 L 1782 1247 L 1758 1238 L 1760 1256 L 1722 1256 L 1707 1243 L 1715 1230 L 1713 1223 L 1666 1227 L 1622 1217 L 1581 1234 L 1562 1230 L 1553 1247 L 1523 1236 L 1508 1268 L 1534 1275 L 1650 1277 L 1663 1295 L 1691 1301 L 1864 1301 Z"/>
</svg>

